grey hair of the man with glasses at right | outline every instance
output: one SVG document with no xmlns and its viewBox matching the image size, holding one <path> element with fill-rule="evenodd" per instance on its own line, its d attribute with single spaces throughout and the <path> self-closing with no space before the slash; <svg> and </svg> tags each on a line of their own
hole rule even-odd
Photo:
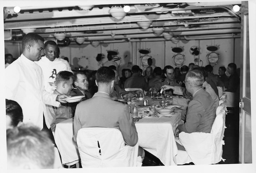
<svg viewBox="0 0 256 173">
<path fill-rule="evenodd" d="M 203 86 L 205 81 L 204 74 L 201 70 L 198 69 L 188 71 L 186 78 L 189 80 L 189 82 L 191 82 L 193 86 Z"/>
</svg>

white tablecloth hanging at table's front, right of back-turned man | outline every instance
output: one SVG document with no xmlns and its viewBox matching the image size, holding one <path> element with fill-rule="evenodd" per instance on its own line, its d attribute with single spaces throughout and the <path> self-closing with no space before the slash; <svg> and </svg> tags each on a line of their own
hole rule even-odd
<svg viewBox="0 0 256 173">
<path fill-rule="evenodd" d="M 181 122 L 181 114 L 172 117 L 143 118 L 136 122 L 139 147 L 158 157 L 165 166 L 176 165 L 178 154 L 174 132 Z"/>
</svg>

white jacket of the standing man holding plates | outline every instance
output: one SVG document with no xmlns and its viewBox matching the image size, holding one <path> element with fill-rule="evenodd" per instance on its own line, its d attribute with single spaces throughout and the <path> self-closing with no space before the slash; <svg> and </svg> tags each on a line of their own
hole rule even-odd
<svg viewBox="0 0 256 173">
<path fill-rule="evenodd" d="M 43 113 L 48 118 L 45 104 L 59 106 L 56 94 L 44 89 L 42 69 L 23 54 L 5 69 L 5 96 L 19 103 L 23 122 L 43 128 Z M 45 121 L 47 122 L 47 121 Z"/>
</svg>

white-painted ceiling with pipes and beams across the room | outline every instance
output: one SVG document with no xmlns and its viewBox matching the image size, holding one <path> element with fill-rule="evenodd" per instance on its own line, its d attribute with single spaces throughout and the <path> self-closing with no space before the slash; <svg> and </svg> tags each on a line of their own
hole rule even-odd
<svg viewBox="0 0 256 173">
<path fill-rule="evenodd" d="M 40 2 L 40 1 L 38 1 Z M 92 1 L 93 2 L 93 1 Z M 107 3 L 107 1 L 106 1 Z M 6 7 L 5 40 L 20 40 L 21 29 L 35 28 L 45 40 L 55 39 L 56 32 L 65 32 L 66 38 L 75 43 L 84 37 L 84 44 L 100 42 L 139 42 L 165 40 L 152 29 L 163 27 L 181 39 L 211 39 L 240 37 L 241 10 L 233 12 L 233 5 L 241 2 L 218 3 L 140 3 L 106 4 L 87 6 L 45 5 L 21 6 L 19 13 Z M 114 6 L 130 6 L 123 19 L 115 19 L 109 13 Z M 88 10 L 84 10 L 84 9 Z M 152 21 L 148 29 L 137 22 Z M 9 34 L 9 36 L 8 36 Z M 22 37 L 22 36 L 21 36 Z"/>
</svg>

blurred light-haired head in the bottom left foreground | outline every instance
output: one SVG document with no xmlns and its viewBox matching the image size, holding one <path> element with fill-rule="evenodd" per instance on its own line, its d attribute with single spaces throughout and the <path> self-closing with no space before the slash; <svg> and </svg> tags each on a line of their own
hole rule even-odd
<svg viewBox="0 0 256 173">
<path fill-rule="evenodd" d="M 31 163 L 42 169 L 53 168 L 54 147 L 45 131 L 21 125 L 6 131 L 7 162 L 13 167 Z"/>
</svg>

